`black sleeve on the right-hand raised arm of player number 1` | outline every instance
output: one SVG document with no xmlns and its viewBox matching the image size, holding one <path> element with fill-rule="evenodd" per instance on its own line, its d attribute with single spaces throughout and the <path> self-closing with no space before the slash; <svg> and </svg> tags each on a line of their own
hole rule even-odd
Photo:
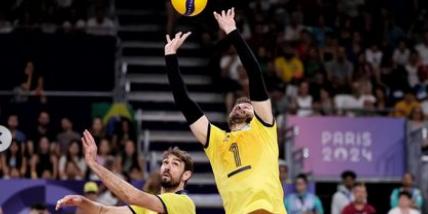
<svg viewBox="0 0 428 214">
<path fill-rule="evenodd" d="M 227 38 L 231 41 L 239 58 L 247 71 L 248 80 L 250 82 L 250 99 L 252 101 L 266 101 L 269 99 L 262 72 L 256 57 L 250 47 L 241 37 L 238 30 L 234 30 Z"/>
</svg>

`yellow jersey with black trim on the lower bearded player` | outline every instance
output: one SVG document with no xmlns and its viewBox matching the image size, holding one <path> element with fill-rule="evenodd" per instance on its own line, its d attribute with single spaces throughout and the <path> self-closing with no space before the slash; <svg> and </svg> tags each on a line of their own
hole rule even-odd
<svg viewBox="0 0 428 214">
<path fill-rule="evenodd" d="M 176 193 L 164 193 L 157 195 L 159 200 L 163 204 L 165 210 L 164 214 L 195 214 L 196 208 L 192 199 L 186 194 L 183 194 L 182 191 Z M 134 214 L 157 214 L 154 211 L 138 207 L 130 206 L 129 207 Z"/>
</svg>

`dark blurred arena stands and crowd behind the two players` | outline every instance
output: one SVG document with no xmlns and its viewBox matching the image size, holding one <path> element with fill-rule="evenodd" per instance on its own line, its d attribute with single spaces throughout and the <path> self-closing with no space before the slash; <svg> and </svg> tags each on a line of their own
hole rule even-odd
<svg viewBox="0 0 428 214">
<path fill-rule="evenodd" d="M 194 33 L 179 52 L 185 82 L 227 128 L 234 100 L 249 91 L 212 17 L 230 7 L 273 101 L 284 206 L 294 207 L 294 192 L 314 194 L 309 213 L 336 214 L 354 194 L 387 213 L 405 206 L 406 191 L 406 206 L 427 213 L 427 1 L 210 0 L 189 18 L 169 1 L 2 0 L 0 124 L 14 137 L 0 154 L 3 213 L 53 212 L 65 194 L 122 204 L 85 165 L 84 129 L 99 161 L 155 194 L 162 151 L 189 151 L 196 168 L 186 189 L 198 213 L 224 213 L 203 148 L 174 105 L 163 46 L 166 33 Z"/>
</svg>

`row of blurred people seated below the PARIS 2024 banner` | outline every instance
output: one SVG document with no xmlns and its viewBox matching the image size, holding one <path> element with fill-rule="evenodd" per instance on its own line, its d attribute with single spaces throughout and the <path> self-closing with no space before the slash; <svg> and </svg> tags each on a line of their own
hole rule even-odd
<svg viewBox="0 0 428 214">
<path fill-rule="evenodd" d="M 285 166 L 283 166 L 285 167 Z M 281 167 L 280 167 L 281 171 Z M 357 181 L 357 174 L 345 171 L 342 182 L 331 196 L 331 210 L 325 210 L 320 198 L 310 190 L 310 181 L 305 174 L 299 174 L 294 180 L 295 191 L 287 192 L 285 206 L 288 213 L 331 213 L 331 214 L 375 214 L 376 204 L 370 203 L 370 191 L 366 185 Z M 426 202 L 423 193 L 414 185 L 413 175 L 406 173 L 400 187 L 391 189 L 388 214 L 420 214 Z"/>
</svg>

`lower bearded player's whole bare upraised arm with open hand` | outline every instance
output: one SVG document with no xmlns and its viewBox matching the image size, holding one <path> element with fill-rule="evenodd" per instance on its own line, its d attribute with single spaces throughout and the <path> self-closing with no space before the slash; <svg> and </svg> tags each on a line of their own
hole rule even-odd
<svg viewBox="0 0 428 214">
<path fill-rule="evenodd" d="M 131 205 L 147 208 L 157 213 L 166 212 L 161 200 L 157 196 L 135 188 L 113 172 L 104 168 L 104 166 L 97 163 L 97 145 L 88 130 L 85 130 L 83 133 L 82 143 L 85 152 L 85 160 L 89 168 L 98 175 L 104 185 L 120 200 Z"/>
</svg>

